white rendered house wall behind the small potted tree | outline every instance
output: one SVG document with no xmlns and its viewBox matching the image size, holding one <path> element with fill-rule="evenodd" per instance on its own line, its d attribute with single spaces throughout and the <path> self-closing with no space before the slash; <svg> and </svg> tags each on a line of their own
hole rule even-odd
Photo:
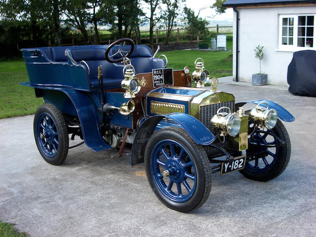
<svg viewBox="0 0 316 237">
<path fill-rule="evenodd" d="M 253 49 L 264 46 L 265 58 L 261 61 L 261 72 L 268 74 L 268 84 L 288 85 L 287 66 L 293 52 L 278 49 L 278 15 L 315 13 L 316 6 L 242 8 L 239 11 L 238 81 L 251 82 L 252 74 L 259 73 L 259 59 Z M 234 12 L 233 77 L 236 79 L 236 12 Z M 303 48 L 304 49 L 304 48 Z"/>
</svg>

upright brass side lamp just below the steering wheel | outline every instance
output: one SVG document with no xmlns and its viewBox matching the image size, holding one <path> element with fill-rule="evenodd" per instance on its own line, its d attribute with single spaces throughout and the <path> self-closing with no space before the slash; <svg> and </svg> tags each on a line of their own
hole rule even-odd
<svg viewBox="0 0 316 237">
<path fill-rule="evenodd" d="M 123 68 L 124 78 L 121 82 L 121 87 L 126 90 L 124 98 L 135 98 L 135 94 L 141 89 L 141 83 L 138 78 L 135 77 L 135 69 L 131 64 L 126 65 Z"/>
</svg>

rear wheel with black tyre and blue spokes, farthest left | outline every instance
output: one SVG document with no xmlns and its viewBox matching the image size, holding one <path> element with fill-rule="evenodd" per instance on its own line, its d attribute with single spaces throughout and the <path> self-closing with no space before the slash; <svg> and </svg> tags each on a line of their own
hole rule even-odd
<svg viewBox="0 0 316 237">
<path fill-rule="evenodd" d="M 68 128 L 61 112 L 52 104 L 41 105 L 34 117 L 34 137 L 40 155 L 50 164 L 64 162 L 68 154 Z"/>
</svg>

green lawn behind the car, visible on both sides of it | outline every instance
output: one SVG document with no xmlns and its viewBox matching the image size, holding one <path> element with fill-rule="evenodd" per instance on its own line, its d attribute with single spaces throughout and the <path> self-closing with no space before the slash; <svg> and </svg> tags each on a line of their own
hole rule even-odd
<svg viewBox="0 0 316 237">
<path fill-rule="evenodd" d="M 227 41 L 228 49 L 232 42 Z M 198 51 L 174 50 L 160 52 L 168 58 L 167 67 L 174 70 L 190 67 L 194 68 L 194 61 L 201 57 L 205 69 L 210 77 L 225 77 L 232 75 L 232 52 L 229 51 Z M 34 88 L 20 85 L 19 82 L 29 81 L 23 60 L 0 62 L 0 118 L 10 118 L 35 114 L 37 108 L 43 103 L 43 98 L 36 98 Z"/>
</svg>

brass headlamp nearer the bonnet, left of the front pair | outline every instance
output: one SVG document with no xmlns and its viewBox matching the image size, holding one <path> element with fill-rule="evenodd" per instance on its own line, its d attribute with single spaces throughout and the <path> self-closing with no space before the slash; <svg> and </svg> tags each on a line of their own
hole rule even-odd
<svg viewBox="0 0 316 237">
<path fill-rule="evenodd" d="M 228 109 L 229 113 L 222 112 L 221 110 Z M 236 113 L 231 112 L 228 107 L 221 107 L 218 109 L 216 115 L 211 118 L 211 124 L 213 127 L 218 128 L 221 132 L 221 136 L 230 135 L 232 137 L 237 136 L 240 130 L 241 121 Z"/>
</svg>

